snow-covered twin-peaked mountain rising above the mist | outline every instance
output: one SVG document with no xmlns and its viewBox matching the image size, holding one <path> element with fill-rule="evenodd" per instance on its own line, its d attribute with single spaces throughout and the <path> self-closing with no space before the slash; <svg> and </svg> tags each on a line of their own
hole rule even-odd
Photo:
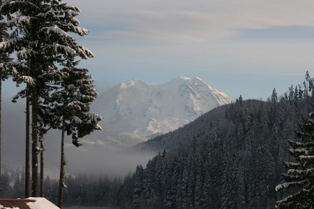
<svg viewBox="0 0 314 209">
<path fill-rule="evenodd" d="M 231 103 L 227 94 L 201 78 L 176 78 L 162 85 L 129 80 L 100 94 L 92 109 L 104 116 L 105 133 L 164 134 L 209 110 Z"/>
</svg>

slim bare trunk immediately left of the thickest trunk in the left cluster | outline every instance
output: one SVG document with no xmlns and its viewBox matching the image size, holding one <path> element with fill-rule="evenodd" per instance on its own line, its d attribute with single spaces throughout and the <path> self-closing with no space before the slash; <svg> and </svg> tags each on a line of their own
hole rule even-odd
<svg viewBox="0 0 314 209">
<path fill-rule="evenodd" d="M 25 145 L 25 198 L 29 198 L 29 182 L 31 177 L 31 150 L 30 150 L 30 120 L 29 120 L 29 96 L 27 95 L 27 106 L 26 106 L 26 145 Z"/>
</svg>

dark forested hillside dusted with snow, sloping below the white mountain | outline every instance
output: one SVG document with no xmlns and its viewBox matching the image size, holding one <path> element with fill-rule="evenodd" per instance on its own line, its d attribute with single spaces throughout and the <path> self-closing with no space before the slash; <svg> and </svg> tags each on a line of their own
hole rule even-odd
<svg viewBox="0 0 314 209">
<path fill-rule="evenodd" d="M 164 149 L 126 176 L 121 208 L 274 208 L 275 187 L 290 159 L 287 139 L 313 99 L 290 91 L 212 110 L 140 147 Z M 172 149 L 170 149 L 172 147 Z M 170 151 L 168 151 L 170 150 Z"/>
</svg>

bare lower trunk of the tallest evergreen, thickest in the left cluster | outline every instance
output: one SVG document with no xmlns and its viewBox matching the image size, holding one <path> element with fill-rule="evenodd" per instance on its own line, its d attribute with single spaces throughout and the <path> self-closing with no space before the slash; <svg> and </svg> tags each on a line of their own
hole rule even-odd
<svg viewBox="0 0 314 209">
<path fill-rule="evenodd" d="M 33 87 L 33 94 L 31 98 L 31 195 L 33 197 L 38 196 L 38 127 L 37 127 L 37 87 Z"/>
</svg>

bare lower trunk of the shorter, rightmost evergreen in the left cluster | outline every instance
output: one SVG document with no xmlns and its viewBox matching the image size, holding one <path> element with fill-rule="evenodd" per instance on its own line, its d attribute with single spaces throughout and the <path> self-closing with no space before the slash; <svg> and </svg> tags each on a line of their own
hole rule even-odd
<svg viewBox="0 0 314 209">
<path fill-rule="evenodd" d="M 61 157 L 60 157 L 60 177 L 59 177 L 59 194 L 58 194 L 58 207 L 62 208 L 62 196 L 63 187 L 65 187 L 66 173 L 64 172 L 64 166 L 66 165 L 66 157 L 64 154 L 64 129 L 66 120 L 62 119 L 62 131 L 61 131 Z"/>
</svg>

